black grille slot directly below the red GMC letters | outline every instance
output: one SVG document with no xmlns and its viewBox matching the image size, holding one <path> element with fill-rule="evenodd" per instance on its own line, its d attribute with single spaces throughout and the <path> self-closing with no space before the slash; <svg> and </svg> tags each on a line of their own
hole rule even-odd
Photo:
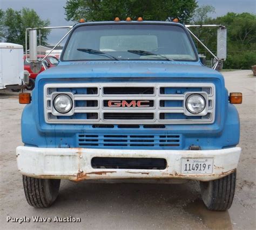
<svg viewBox="0 0 256 230">
<path fill-rule="evenodd" d="M 153 120 L 153 113 L 104 113 L 104 120 Z"/>
</svg>

